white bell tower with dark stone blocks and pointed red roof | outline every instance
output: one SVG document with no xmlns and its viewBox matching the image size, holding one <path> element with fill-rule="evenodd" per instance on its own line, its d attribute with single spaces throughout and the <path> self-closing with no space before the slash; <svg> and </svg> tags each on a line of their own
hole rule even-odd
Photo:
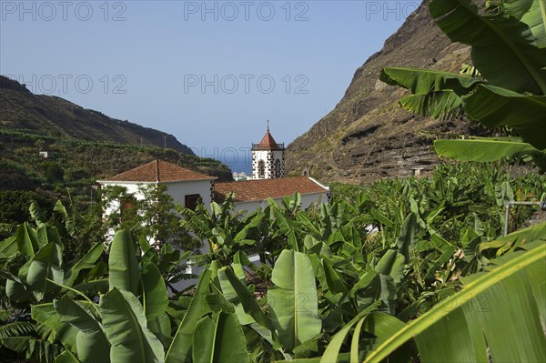
<svg viewBox="0 0 546 363">
<path fill-rule="evenodd" d="M 268 130 L 258 144 L 252 144 L 252 178 L 274 179 L 285 176 L 284 144 L 278 144 Z"/>
</svg>

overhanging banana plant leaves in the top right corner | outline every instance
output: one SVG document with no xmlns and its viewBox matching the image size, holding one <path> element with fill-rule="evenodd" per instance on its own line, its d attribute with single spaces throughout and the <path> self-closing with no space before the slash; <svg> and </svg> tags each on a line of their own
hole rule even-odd
<svg viewBox="0 0 546 363">
<path fill-rule="evenodd" d="M 470 45 L 478 75 L 384 68 L 383 82 L 410 89 L 400 106 L 424 116 L 465 114 L 484 126 L 508 126 L 522 141 L 439 140 L 440 155 L 457 160 L 532 158 L 545 170 L 546 15 L 541 0 L 488 3 L 480 14 L 471 0 L 433 0 L 430 15 L 452 42 Z"/>
</svg>

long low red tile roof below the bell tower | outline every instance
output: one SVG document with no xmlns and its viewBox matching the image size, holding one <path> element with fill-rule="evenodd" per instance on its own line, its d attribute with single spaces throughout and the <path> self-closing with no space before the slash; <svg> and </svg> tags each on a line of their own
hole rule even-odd
<svg viewBox="0 0 546 363">
<path fill-rule="evenodd" d="M 244 180 L 238 182 L 217 182 L 214 185 L 214 197 L 223 202 L 227 194 L 233 192 L 236 202 L 264 200 L 299 194 L 325 193 L 329 189 L 321 187 L 307 176 L 282 177 L 277 179 Z"/>
</svg>

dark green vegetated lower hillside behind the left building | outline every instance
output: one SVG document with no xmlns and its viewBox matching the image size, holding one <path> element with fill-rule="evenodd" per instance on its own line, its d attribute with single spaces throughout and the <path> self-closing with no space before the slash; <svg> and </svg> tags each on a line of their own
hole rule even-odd
<svg viewBox="0 0 546 363">
<path fill-rule="evenodd" d="M 173 149 L 45 136 L 5 127 L 0 128 L 1 150 L 0 200 L 10 201 L 2 203 L 8 209 L 0 212 L 2 222 L 24 222 L 31 196 L 47 209 L 66 194 L 75 202 L 94 203 L 97 196 L 91 186 L 97 179 L 154 159 L 231 179 L 230 170 L 217 160 L 180 154 Z M 47 151 L 48 157 L 40 156 L 40 151 Z M 23 210 L 21 205 L 25 205 Z"/>
</svg>

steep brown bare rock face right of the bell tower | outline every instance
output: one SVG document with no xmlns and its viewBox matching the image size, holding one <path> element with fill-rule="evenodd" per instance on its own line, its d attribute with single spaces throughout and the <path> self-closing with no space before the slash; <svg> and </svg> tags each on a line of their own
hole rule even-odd
<svg viewBox="0 0 546 363">
<path fill-rule="evenodd" d="M 412 115 L 398 105 L 407 92 L 379 81 L 381 68 L 408 66 L 459 72 L 470 48 L 452 44 L 430 19 L 425 0 L 383 49 L 353 76 L 339 104 L 287 149 L 287 170 L 309 170 L 324 181 L 368 182 L 383 176 L 426 174 L 438 163 L 435 133 L 481 134 L 469 122 Z"/>
</svg>

